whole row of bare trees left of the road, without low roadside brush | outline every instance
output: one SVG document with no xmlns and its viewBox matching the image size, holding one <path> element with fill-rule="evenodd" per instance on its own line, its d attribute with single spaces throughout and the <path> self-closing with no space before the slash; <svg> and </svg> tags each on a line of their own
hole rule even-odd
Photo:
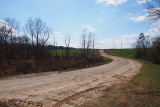
<svg viewBox="0 0 160 107">
<path fill-rule="evenodd" d="M 55 70 L 56 66 L 65 66 L 65 64 L 63 64 L 64 60 L 72 61 L 72 59 L 74 59 L 74 63 L 77 63 L 77 66 L 82 64 L 80 62 L 82 59 L 84 64 L 92 63 L 94 62 L 95 53 L 94 35 L 92 32 L 83 32 L 80 39 L 82 46 L 80 49 L 81 52 L 80 54 L 75 54 L 73 58 L 70 57 L 71 34 L 67 34 L 64 37 L 65 47 L 62 48 L 57 46 L 52 29 L 40 18 L 29 18 L 23 26 L 23 29 L 15 19 L 5 18 L 3 21 L 0 21 L 0 70 L 5 66 L 7 69 L 10 65 L 15 64 L 16 66 L 17 64 L 25 64 L 26 62 L 29 64 L 33 63 L 34 69 L 36 69 L 36 72 L 39 72 L 39 68 L 45 65 L 43 64 L 44 62 L 42 62 L 43 59 L 45 59 L 45 63 L 48 63 L 46 66 L 50 65 L 50 67 L 54 67 Z M 52 43 L 48 42 L 49 39 L 52 39 Z M 93 48 L 91 53 L 90 48 Z M 58 56 L 58 49 L 62 49 L 62 58 L 64 59 Z M 54 51 L 55 55 L 53 55 L 51 50 Z M 73 64 L 73 66 L 74 65 L 75 64 Z"/>
</svg>

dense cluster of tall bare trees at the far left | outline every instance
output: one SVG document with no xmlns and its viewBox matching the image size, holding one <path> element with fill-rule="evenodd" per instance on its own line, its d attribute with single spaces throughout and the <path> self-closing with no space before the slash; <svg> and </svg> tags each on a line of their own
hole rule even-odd
<svg viewBox="0 0 160 107">
<path fill-rule="evenodd" d="M 35 61 L 43 57 L 45 45 L 51 36 L 51 29 L 40 18 L 29 18 L 24 32 L 20 24 L 12 18 L 6 18 L 0 25 L 0 60 L 1 63 L 14 58 L 28 59 L 34 56 Z"/>
</svg>

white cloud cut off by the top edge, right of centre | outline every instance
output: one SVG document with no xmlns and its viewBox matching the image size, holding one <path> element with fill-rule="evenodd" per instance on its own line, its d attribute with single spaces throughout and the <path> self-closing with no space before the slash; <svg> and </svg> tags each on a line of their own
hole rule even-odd
<svg viewBox="0 0 160 107">
<path fill-rule="evenodd" d="M 105 3 L 105 4 L 112 4 L 112 5 L 119 5 L 125 2 L 127 2 L 127 0 L 97 0 L 97 3 Z"/>
</svg>

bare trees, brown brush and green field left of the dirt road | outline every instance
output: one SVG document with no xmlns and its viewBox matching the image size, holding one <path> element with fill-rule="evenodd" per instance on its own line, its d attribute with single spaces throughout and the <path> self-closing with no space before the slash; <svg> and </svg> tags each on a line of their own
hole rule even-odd
<svg viewBox="0 0 160 107">
<path fill-rule="evenodd" d="M 0 77 L 109 63 L 94 49 L 94 36 L 83 31 L 82 47 L 76 49 L 70 47 L 71 34 L 67 34 L 65 46 L 57 46 L 52 29 L 40 18 L 29 18 L 22 28 L 15 19 L 5 18 L 0 22 Z"/>
</svg>

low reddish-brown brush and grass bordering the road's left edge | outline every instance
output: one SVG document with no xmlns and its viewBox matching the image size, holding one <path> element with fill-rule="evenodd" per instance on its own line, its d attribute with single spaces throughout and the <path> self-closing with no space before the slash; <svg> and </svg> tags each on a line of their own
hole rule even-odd
<svg viewBox="0 0 160 107">
<path fill-rule="evenodd" d="M 50 51 L 55 55 L 55 50 Z M 65 51 L 63 51 L 65 54 Z M 38 72 L 48 72 L 48 71 L 72 71 L 90 67 L 96 67 L 103 64 L 110 63 L 112 60 L 108 58 L 102 58 L 98 51 L 95 50 L 94 60 L 92 58 L 92 50 L 87 58 L 81 56 L 82 50 L 80 49 L 70 49 L 70 56 L 68 58 L 62 57 L 62 50 L 57 50 L 58 57 L 47 57 L 40 59 L 38 64 Z M 12 65 L 4 63 L 0 66 L 0 78 L 9 77 L 20 74 L 37 73 L 36 63 L 34 59 L 12 61 Z"/>
</svg>

